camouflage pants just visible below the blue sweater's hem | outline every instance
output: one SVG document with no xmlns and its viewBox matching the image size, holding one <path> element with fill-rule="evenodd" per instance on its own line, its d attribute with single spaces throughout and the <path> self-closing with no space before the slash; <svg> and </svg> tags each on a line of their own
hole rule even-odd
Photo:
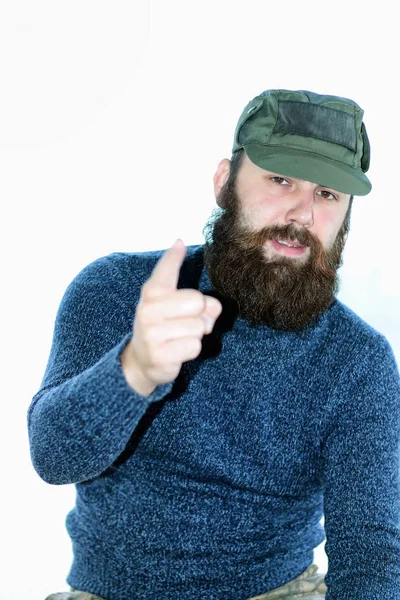
<svg viewBox="0 0 400 600">
<path fill-rule="evenodd" d="M 304 573 L 285 585 L 265 594 L 253 596 L 248 600 L 323 600 L 327 588 L 324 583 L 324 575 L 321 573 L 318 574 L 317 571 L 317 565 L 311 565 Z M 103 598 L 89 594 L 88 592 L 72 590 L 70 592 L 50 594 L 46 600 L 103 600 Z"/>
</svg>

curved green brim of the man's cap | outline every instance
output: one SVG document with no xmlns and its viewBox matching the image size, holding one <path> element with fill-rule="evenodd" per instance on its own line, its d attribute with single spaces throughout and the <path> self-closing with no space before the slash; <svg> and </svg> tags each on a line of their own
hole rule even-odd
<svg viewBox="0 0 400 600">
<path fill-rule="evenodd" d="M 311 181 L 355 196 L 366 196 L 372 188 L 361 169 L 319 154 L 261 144 L 245 144 L 244 149 L 251 162 L 278 175 Z"/>
</svg>

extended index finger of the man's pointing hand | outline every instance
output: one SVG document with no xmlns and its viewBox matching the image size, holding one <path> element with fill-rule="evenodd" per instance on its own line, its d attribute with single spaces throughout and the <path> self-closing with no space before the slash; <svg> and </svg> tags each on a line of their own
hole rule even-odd
<svg viewBox="0 0 400 600">
<path fill-rule="evenodd" d="M 178 238 L 159 259 L 147 282 L 146 289 L 150 291 L 152 297 L 177 289 L 179 273 L 185 256 L 186 246 Z"/>
</svg>

